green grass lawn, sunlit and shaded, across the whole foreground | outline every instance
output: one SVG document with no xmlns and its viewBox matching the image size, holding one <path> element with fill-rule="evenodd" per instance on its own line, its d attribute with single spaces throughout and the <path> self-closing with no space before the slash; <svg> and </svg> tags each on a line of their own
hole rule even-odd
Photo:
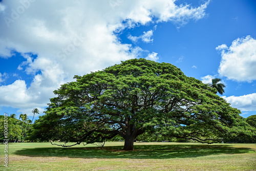
<svg viewBox="0 0 256 171">
<path fill-rule="evenodd" d="M 135 143 L 104 147 L 50 143 L 9 143 L 8 167 L 1 144 L 0 170 L 256 170 L 256 144 Z"/>
</svg>

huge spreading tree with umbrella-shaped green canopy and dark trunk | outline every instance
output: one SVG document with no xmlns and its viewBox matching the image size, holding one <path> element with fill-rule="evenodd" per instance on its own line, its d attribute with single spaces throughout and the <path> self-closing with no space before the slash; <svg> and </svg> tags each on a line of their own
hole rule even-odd
<svg viewBox="0 0 256 171">
<path fill-rule="evenodd" d="M 74 78 L 54 91 L 46 115 L 35 121 L 34 136 L 75 145 L 118 135 L 123 149 L 132 150 L 144 133 L 207 143 L 253 135 L 240 111 L 215 89 L 170 63 L 131 59 Z"/>
</svg>

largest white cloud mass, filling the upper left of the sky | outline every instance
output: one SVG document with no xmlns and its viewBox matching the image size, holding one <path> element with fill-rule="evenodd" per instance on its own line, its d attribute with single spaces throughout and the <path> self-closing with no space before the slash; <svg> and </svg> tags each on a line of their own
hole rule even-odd
<svg viewBox="0 0 256 171">
<path fill-rule="evenodd" d="M 184 26 L 189 19 L 204 17 L 208 3 L 194 8 L 177 6 L 175 0 L 114 4 L 103 0 L 2 1 L 0 57 L 8 60 L 15 51 L 22 54 L 26 61 L 19 64 L 18 70 L 29 74 L 32 82 L 19 79 L 0 86 L 0 107 L 25 112 L 43 109 L 53 97 L 52 91 L 72 81 L 74 75 L 101 70 L 145 52 L 122 44 L 116 33 L 155 22 Z M 152 30 L 144 32 L 141 39 L 152 42 L 152 35 Z M 156 52 L 144 57 L 158 60 Z"/>
</svg>

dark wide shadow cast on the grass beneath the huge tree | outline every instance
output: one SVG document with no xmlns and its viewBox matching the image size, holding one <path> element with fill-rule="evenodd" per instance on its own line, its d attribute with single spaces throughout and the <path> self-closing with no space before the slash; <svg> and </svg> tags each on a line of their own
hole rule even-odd
<svg viewBox="0 0 256 171">
<path fill-rule="evenodd" d="M 243 154 L 251 148 L 237 148 L 229 145 L 135 145 L 134 151 L 123 151 L 122 146 L 105 147 L 45 147 L 24 148 L 15 155 L 70 158 L 131 158 L 170 159 L 193 158 L 208 155 Z"/>
</svg>

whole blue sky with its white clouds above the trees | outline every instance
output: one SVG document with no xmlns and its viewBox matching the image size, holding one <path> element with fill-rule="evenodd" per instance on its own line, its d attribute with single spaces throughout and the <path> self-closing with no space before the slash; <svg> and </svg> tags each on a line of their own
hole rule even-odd
<svg viewBox="0 0 256 171">
<path fill-rule="evenodd" d="M 143 57 L 169 62 L 256 114 L 256 2 L 0 1 L 0 114 L 39 115 L 60 84 Z M 39 115 L 35 116 L 35 119 Z"/>
</svg>

